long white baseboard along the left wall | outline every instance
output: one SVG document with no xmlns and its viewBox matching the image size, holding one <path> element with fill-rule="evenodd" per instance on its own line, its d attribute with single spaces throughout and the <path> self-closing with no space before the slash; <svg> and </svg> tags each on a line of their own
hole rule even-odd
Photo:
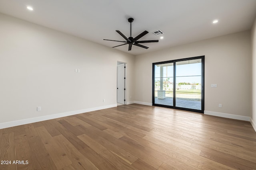
<svg viewBox="0 0 256 170">
<path fill-rule="evenodd" d="M 80 114 L 80 113 L 86 113 L 89 111 L 108 109 L 108 108 L 116 107 L 116 106 L 117 106 L 117 104 L 112 104 L 112 105 L 107 105 L 107 106 L 92 107 L 92 108 L 88 108 L 88 109 L 68 111 L 68 112 L 64 112 L 64 113 L 57 113 L 57 114 L 52 114 L 52 115 L 40 116 L 40 117 L 33 117 L 33 118 L 22 119 L 22 120 L 17 120 L 17 121 L 9 121 L 9 122 L 0 123 L 0 129 L 4 129 L 7 127 L 19 126 L 19 125 L 25 125 L 28 123 L 35 123 L 38 121 L 56 119 L 56 118 L 70 116 L 70 115 L 76 115 L 76 114 Z"/>
</svg>

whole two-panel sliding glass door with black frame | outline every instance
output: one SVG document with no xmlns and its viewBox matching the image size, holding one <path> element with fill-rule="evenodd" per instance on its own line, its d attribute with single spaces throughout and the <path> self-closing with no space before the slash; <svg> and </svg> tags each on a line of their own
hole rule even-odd
<svg viewBox="0 0 256 170">
<path fill-rule="evenodd" d="M 203 113 L 204 56 L 153 63 L 152 103 Z"/>
</svg>

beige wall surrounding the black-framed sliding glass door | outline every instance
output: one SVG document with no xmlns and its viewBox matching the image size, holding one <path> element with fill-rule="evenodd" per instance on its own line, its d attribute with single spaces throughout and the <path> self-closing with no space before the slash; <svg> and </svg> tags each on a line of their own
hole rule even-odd
<svg viewBox="0 0 256 170">
<path fill-rule="evenodd" d="M 152 103 L 152 63 L 201 55 L 205 55 L 205 111 L 250 117 L 250 31 L 136 56 L 136 100 Z"/>
</svg>

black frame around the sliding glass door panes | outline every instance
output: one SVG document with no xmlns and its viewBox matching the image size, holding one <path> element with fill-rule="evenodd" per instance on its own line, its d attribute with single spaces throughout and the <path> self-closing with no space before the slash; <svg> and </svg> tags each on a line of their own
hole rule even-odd
<svg viewBox="0 0 256 170">
<path fill-rule="evenodd" d="M 202 68 L 201 68 L 201 110 L 197 109 L 189 109 L 184 107 L 176 107 L 176 62 L 179 61 L 186 61 L 186 60 L 193 60 L 193 59 L 201 59 Z M 162 105 L 162 104 L 155 104 L 155 69 L 154 66 L 156 64 L 166 64 L 166 63 L 173 63 L 173 106 Z M 173 109 L 180 109 L 186 111 L 194 111 L 198 113 L 204 113 L 204 55 L 198 57 L 190 57 L 185 59 L 177 59 L 177 60 L 170 60 L 170 61 L 162 61 L 157 63 L 152 63 L 152 105 L 153 106 L 160 106 L 160 107 L 168 107 Z"/>
</svg>

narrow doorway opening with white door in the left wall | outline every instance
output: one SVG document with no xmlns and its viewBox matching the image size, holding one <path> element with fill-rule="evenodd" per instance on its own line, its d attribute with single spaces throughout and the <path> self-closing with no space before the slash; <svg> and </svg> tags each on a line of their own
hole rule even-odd
<svg viewBox="0 0 256 170">
<path fill-rule="evenodd" d="M 126 75 L 126 63 L 117 62 L 117 106 L 127 104 Z"/>
</svg>

